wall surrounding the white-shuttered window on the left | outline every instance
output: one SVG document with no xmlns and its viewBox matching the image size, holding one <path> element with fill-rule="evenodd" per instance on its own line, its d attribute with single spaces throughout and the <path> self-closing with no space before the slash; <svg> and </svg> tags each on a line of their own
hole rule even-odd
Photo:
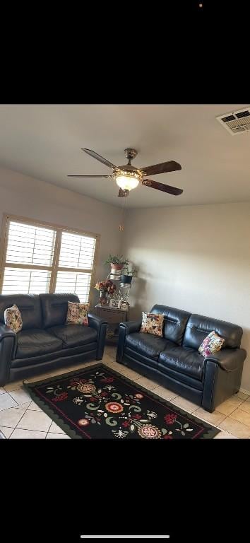
<svg viewBox="0 0 250 543">
<path fill-rule="evenodd" d="M 121 252 L 121 209 L 12 170 L 0 169 L 0 222 L 3 213 L 100 234 L 97 280 L 105 279 L 110 271 L 110 267 L 103 264 L 109 252 Z M 95 291 L 93 299 L 97 297 Z"/>
</svg>

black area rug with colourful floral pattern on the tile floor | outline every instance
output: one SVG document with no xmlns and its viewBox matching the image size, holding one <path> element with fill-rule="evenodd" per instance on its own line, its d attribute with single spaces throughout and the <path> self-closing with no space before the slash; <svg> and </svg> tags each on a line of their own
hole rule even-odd
<svg viewBox="0 0 250 543">
<path fill-rule="evenodd" d="M 102 363 L 23 384 L 74 439 L 211 439 L 219 433 Z"/>
</svg>

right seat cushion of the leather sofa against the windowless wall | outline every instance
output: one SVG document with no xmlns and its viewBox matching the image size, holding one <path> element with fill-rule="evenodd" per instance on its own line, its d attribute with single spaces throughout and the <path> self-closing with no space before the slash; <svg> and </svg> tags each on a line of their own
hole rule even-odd
<svg viewBox="0 0 250 543">
<path fill-rule="evenodd" d="M 159 356 L 159 370 L 169 368 L 202 380 L 204 358 L 190 347 L 167 346 Z"/>
</svg>

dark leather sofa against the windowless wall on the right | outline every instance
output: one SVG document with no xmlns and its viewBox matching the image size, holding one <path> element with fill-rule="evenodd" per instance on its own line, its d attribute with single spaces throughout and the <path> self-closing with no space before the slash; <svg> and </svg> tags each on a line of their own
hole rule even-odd
<svg viewBox="0 0 250 543">
<path fill-rule="evenodd" d="M 210 412 L 238 392 L 246 358 L 246 351 L 240 349 L 241 327 L 166 305 L 154 305 L 150 313 L 165 316 L 163 337 L 139 332 L 141 320 L 121 322 L 117 362 Z M 225 344 L 203 358 L 198 347 L 212 330 Z"/>
</svg>

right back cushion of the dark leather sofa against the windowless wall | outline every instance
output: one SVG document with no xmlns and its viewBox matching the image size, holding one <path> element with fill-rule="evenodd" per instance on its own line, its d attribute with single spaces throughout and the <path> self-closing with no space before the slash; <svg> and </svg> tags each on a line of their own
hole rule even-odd
<svg viewBox="0 0 250 543">
<path fill-rule="evenodd" d="M 240 326 L 232 325 L 224 320 L 212 319 L 203 315 L 191 315 L 186 325 L 183 344 L 186 347 L 198 349 L 203 339 L 215 330 L 222 339 L 225 339 L 222 349 L 236 349 L 240 347 L 243 330 Z"/>
</svg>

